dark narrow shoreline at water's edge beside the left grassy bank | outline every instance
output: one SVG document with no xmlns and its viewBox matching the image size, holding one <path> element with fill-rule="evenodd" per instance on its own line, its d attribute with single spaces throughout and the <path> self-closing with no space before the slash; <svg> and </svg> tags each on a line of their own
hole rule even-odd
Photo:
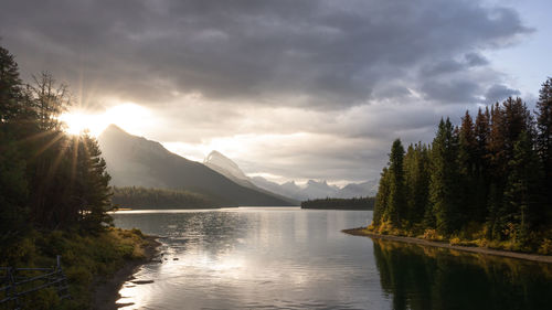
<svg viewBox="0 0 552 310">
<path fill-rule="evenodd" d="M 157 236 L 145 236 L 145 238 L 148 240 L 148 245 L 144 248 L 144 258 L 125 261 L 112 277 L 93 285 L 92 309 L 117 310 L 120 307 L 128 306 L 117 303 L 120 298 L 120 288 L 127 280 L 132 278 L 132 275 L 142 265 L 151 261 L 159 254 L 159 246 L 161 246 L 161 243 L 157 240 L 159 238 Z"/>
</svg>

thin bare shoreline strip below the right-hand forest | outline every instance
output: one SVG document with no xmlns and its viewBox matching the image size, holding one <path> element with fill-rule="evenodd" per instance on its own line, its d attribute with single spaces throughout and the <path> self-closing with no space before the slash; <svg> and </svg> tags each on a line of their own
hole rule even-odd
<svg viewBox="0 0 552 310">
<path fill-rule="evenodd" d="M 548 255 L 509 252 L 509 250 L 492 249 L 492 248 L 487 248 L 487 247 L 469 247 L 469 246 L 449 245 L 448 243 L 445 243 L 445 242 L 433 242 L 433 240 L 420 239 L 420 238 L 414 238 L 414 237 L 380 235 L 380 234 L 374 234 L 374 233 L 368 232 L 365 229 L 365 227 L 342 229 L 341 232 L 349 234 L 349 235 L 353 235 L 353 236 L 388 239 L 388 240 L 393 240 L 393 242 L 417 244 L 417 245 L 422 245 L 422 246 L 433 246 L 433 247 L 448 248 L 448 249 L 477 253 L 477 254 L 484 254 L 484 255 L 501 256 L 501 257 L 508 257 L 508 258 L 531 260 L 531 261 L 537 261 L 537 263 L 552 264 L 552 256 L 548 256 Z"/>
</svg>

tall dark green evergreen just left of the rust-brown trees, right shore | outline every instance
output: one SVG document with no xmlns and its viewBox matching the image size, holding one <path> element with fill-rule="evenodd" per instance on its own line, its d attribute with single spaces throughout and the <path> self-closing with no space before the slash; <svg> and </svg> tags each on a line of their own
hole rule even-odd
<svg viewBox="0 0 552 310">
<path fill-rule="evenodd" d="M 458 137 L 447 118 L 440 120 L 437 135 L 433 140 L 429 199 L 436 218 L 437 229 L 446 235 L 460 228 L 464 214 L 460 210 L 460 188 Z"/>
</svg>

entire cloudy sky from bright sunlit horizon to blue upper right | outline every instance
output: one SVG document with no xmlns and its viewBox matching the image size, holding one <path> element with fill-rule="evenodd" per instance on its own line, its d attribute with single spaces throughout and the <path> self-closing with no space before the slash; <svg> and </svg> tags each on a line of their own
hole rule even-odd
<svg viewBox="0 0 552 310">
<path fill-rule="evenodd" d="M 0 44 L 73 113 L 252 175 L 379 177 L 391 142 L 552 75 L 549 0 L 2 0 Z M 123 117 L 124 116 L 124 117 Z"/>
</svg>

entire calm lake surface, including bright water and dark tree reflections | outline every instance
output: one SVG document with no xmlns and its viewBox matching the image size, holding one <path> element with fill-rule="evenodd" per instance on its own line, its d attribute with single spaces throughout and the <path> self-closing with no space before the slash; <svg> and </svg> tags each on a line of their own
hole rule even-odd
<svg viewBox="0 0 552 310">
<path fill-rule="evenodd" d="M 121 309 L 552 309 L 552 266 L 341 233 L 369 211 L 119 212 L 162 236 Z"/>
</svg>

